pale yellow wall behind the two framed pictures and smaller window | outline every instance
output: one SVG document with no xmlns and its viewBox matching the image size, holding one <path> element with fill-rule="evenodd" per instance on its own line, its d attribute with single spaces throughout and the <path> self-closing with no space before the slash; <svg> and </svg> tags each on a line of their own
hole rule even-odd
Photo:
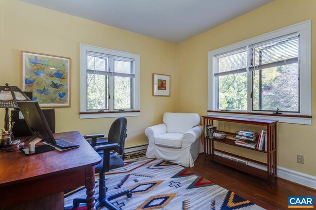
<svg viewBox="0 0 316 210">
<path fill-rule="evenodd" d="M 57 132 L 104 133 L 115 118 L 79 119 L 79 44 L 85 43 L 140 55 L 141 116 L 127 117 L 126 146 L 148 142 L 144 131 L 176 111 L 175 44 L 121 30 L 19 0 L 0 0 L 0 85 L 21 88 L 20 51 L 72 58 L 71 107 L 56 108 Z M 171 96 L 152 96 L 152 73 L 171 75 Z M 0 110 L 0 121 L 4 116 Z"/>
</svg>

